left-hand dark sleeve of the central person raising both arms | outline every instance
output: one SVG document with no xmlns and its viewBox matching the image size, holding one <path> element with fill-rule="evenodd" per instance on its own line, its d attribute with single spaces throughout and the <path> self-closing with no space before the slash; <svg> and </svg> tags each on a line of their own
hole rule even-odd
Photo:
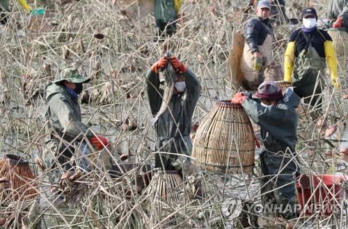
<svg viewBox="0 0 348 229">
<path fill-rule="evenodd" d="M 155 116 L 161 106 L 162 97 L 161 90 L 159 89 L 159 74 L 152 70 L 149 70 L 146 75 L 146 91 L 148 93 L 151 113 Z"/>
</svg>

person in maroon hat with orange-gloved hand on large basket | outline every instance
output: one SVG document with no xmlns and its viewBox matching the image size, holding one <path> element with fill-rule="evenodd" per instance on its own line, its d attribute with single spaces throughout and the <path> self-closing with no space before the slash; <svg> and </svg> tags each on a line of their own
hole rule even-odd
<svg viewBox="0 0 348 229">
<path fill-rule="evenodd" d="M 277 228 L 285 228 L 286 222 L 296 217 L 295 179 L 300 168 L 294 157 L 297 142 L 295 109 L 300 100 L 292 87 L 287 88 L 283 96 L 278 84 L 264 81 L 252 96 L 237 93 L 231 101 L 242 104 L 248 117 L 261 128 L 260 162 L 264 175 L 260 184 L 261 203 L 267 219 L 259 218 L 260 228 L 273 228 L 275 224 L 278 224 Z M 272 207 L 278 207 L 278 212 Z"/>
</svg>

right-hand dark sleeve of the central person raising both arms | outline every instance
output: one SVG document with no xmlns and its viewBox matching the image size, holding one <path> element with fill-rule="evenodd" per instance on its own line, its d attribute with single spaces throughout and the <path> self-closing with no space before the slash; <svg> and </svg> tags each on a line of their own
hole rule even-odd
<svg viewBox="0 0 348 229">
<path fill-rule="evenodd" d="M 200 84 L 196 75 L 189 69 L 182 74 L 187 86 L 187 109 L 192 116 L 200 95 Z"/>
</svg>

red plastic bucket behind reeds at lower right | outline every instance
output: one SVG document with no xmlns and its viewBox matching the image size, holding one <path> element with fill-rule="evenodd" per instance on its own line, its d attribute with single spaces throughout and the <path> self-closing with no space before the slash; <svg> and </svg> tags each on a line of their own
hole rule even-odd
<svg viewBox="0 0 348 229">
<path fill-rule="evenodd" d="M 340 211 L 345 199 L 342 182 L 346 180 L 345 175 L 301 175 L 296 184 L 301 212 L 328 216 Z"/>
</svg>

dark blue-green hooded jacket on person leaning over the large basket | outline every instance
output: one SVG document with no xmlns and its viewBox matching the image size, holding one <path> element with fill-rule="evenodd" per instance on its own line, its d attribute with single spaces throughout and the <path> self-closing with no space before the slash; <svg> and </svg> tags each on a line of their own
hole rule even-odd
<svg viewBox="0 0 348 229">
<path fill-rule="evenodd" d="M 294 152 L 297 142 L 295 108 L 300 100 L 293 88 L 287 88 L 283 100 L 276 106 L 265 107 L 251 99 L 242 102 L 249 118 L 260 125 L 262 142 L 270 152 L 285 152 L 287 148 Z"/>
</svg>

